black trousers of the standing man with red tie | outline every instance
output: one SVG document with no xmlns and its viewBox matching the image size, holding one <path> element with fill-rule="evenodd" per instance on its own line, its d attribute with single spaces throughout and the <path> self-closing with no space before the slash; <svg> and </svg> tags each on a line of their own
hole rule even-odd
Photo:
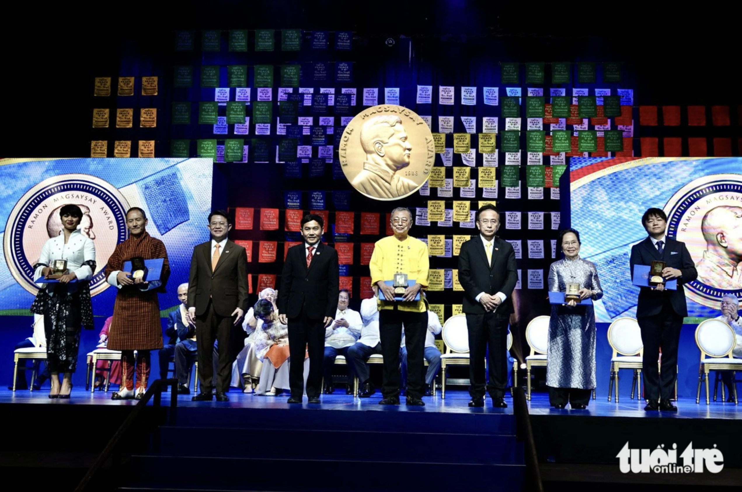
<svg viewBox="0 0 742 492">
<path fill-rule="evenodd" d="M 306 396 L 320 396 L 322 392 L 322 362 L 324 359 L 324 319 L 312 320 L 302 311 L 298 318 L 289 318 L 289 355 L 298 364 L 289 366 L 291 396 L 301 398 L 304 393 L 304 351 L 309 352 L 309 375 L 306 378 Z"/>
</svg>

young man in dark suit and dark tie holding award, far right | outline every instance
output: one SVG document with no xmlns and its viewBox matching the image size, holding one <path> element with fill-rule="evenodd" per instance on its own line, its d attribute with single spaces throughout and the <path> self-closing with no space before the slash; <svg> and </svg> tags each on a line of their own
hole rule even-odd
<svg viewBox="0 0 742 492">
<path fill-rule="evenodd" d="M 637 321 L 642 333 L 644 358 L 644 410 L 677 412 L 671 402 L 677 378 L 677 341 L 683 318 L 688 315 L 683 283 L 698 276 L 685 243 L 667 237 L 667 215 L 662 209 L 644 212 L 642 224 L 649 237 L 631 246 L 631 275 L 634 265 L 651 266 L 654 260 L 664 261 L 662 276 L 666 281 L 677 280 L 677 290 L 657 287 L 642 287 L 637 302 Z M 657 370 L 657 359 L 662 347 L 662 367 Z"/>
</svg>

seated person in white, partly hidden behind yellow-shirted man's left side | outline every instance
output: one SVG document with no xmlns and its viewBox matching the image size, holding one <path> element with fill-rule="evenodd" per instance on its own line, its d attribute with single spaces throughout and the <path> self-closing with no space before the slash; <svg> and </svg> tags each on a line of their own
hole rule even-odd
<svg viewBox="0 0 742 492">
<path fill-rule="evenodd" d="M 364 326 L 361 328 L 361 338 L 348 348 L 346 360 L 361 386 L 358 390 L 359 398 L 368 398 L 376 393 L 371 384 L 369 367 L 366 363 L 371 355 L 381 354 L 381 341 L 378 337 L 378 307 L 376 295 L 378 286 L 372 287 L 374 297 L 361 301 L 361 318 Z"/>
</svg>

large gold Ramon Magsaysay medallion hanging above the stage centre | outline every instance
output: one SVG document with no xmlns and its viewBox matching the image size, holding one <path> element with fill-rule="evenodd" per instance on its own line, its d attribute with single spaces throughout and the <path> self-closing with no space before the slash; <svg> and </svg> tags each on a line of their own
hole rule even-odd
<svg viewBox="0 0 742 492">
<path fill-rule="evenodd" d="M 361 194 L 398 200 L 430 177 L 436 145 L 427 123 L 414 111 L 378 105 L 357 114 L 341 137 L 340 165 Z"/>
</svg>

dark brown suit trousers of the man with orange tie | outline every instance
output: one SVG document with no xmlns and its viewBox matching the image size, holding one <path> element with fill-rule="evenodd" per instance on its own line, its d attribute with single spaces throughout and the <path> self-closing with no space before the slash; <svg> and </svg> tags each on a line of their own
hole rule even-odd
<svg viewBox="0 0 742 492">
<path fill-rule="evenodd" d="M 220 316 L 214 311 L 214 303 L 209 300 L 206 312 L 196 316 L 196 344 L 198 347 L 198 378 L 201 392 L 211 393 L 214 384 L 214 339 L 219 343 L 219 358 L 215 385 L 218 393 L 229 391 L 232 378 L 232 364 L 229 362 L 229 338 L 232 332 L 232 316 Z"/>
</svg>

